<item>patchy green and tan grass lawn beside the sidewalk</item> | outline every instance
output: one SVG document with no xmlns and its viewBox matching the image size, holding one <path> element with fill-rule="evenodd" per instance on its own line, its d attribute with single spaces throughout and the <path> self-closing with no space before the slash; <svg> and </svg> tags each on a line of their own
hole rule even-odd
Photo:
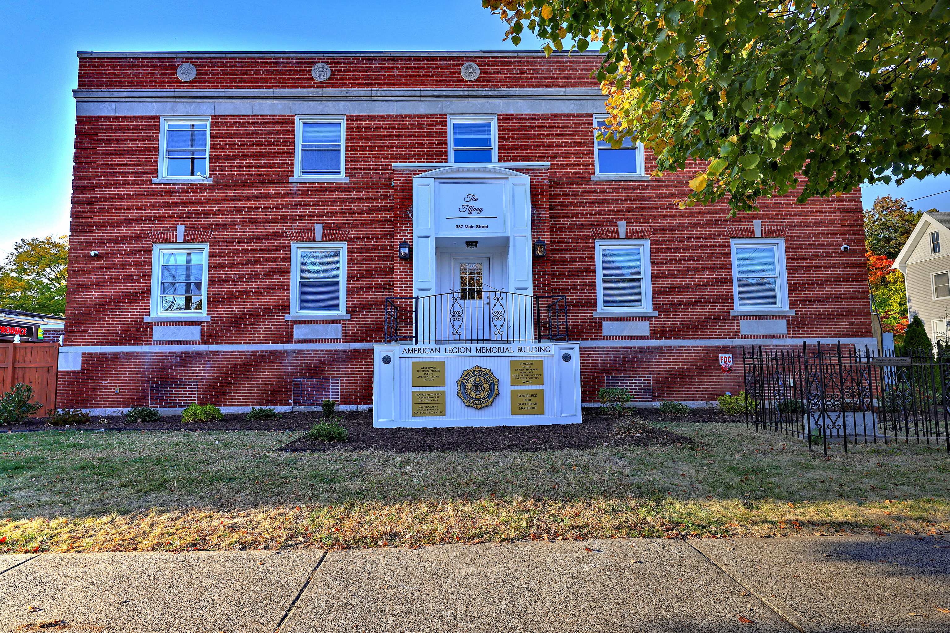
<svg viewBox="0 0 950 633">
<path fill-rule="evenodd" d="M 697 442 L 285 454 L 296 434 L 0 432 L 0 552 L 950 530 L 940 446 L 826 459 L 744 423 L 662 426 Z"/>
</svg>

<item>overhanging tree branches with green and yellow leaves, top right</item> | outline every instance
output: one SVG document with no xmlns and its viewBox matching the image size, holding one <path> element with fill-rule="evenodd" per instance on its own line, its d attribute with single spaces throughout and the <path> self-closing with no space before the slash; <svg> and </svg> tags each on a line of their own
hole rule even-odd
<svg viewBox="0 0 950 633">
<path fill-rule="evenodd" d="M 656 176 L 688 171 L 681 207 L 728 198 L 735 214 L 950 173 L 950 0 L 483 6 L 516 45 L 527 28 L 548 54 L 599 46 L 612 126 L 598 137 L 642 141 Z"/>
</svg>

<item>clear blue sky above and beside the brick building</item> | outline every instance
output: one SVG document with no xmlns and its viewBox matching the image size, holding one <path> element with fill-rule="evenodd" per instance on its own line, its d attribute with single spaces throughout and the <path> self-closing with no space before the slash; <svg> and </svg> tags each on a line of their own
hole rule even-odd
<svg viewBox="0 0 950 633">
<path fill-rule="evenodd" d="M 408 2 L 11 2 L 0 0 L 0 255 L 24 237 L 68 230 L 77 50 L 504 49 L 480 0 Z M 537 49 L 525 37 L 521 49 Z M 877 185 L 915 198 L 950 176 Z M 950 211 L 950 193 L 911 206 Z"/>
</svg>

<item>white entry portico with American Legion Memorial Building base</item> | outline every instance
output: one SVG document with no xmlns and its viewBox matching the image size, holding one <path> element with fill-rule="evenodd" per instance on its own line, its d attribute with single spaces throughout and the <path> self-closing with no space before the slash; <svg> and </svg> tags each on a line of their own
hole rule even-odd
<svg viewBox="0 0 950 633">
<path fill-rule="evenodd" d="M 580 422 L 580 347 L 534 296 L 529 178 L 457 165 L 414 177 L 412 198 L 413 298 L 375 345 L 373 425 Z"/>
</svg>

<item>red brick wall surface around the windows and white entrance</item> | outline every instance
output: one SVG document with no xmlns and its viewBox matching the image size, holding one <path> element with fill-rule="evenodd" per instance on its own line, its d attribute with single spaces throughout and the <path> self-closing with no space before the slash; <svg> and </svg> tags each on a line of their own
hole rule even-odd
<svg viewBox="0 0 950 633">
<path fill-rule="evenodd" d="M 481 68 L 474 83 L 459 74 L 466 61 Z M 198 67 L 187 84 L 175 77 L 184 62 Z M 317 62 L 331 65 L 333 75 L 315 85 L 310 68 Z M 596 87 L 589 76 L 596 65 L 590 56 L 81 57 L 79 87 Z M 687 181 L 698 167 L 648 181 L 591 180 L 592 119 L 498 114 L 500 161 L 551 163 L 520 171 L 531 178 L 532 239 L 548 245 L 548 255 L 534 260 L 535 289 L 568 296 L 573 340 L 603 338 L 603 319 L 594 316 L 594 240 L 616 237 L 618 220 L 627 223 L 628 235 L 650 238 L 658 311 L 649 318 L 650 339 L 755 341 L 740 335 L 739 317 L 730 314 L 730 238 L 751 236 L 753 218 L 762 220 L 764 235 L 785 237 L 795 310 L 760 318 L 786 319 L 789 339 L 871 335 L 859 192 L 805 205 L 796 204 L 794 194 L 763 199 L 762 213 L 732 219 L 724 203 L 680 210 L 676 200 L 689 193 Z M 153 184 L 159 126 L 159 116 L 77 118 L 66 344 L 153 345 L 153 324 L 143 321 L 152 245 L 174 241 L 177 225 L 185 225 L 185 241 L 209 244 L 210 321 L 175 324 L 201 327 L 192 344 L 299 343 L 294 322 L 284 319 L 291 242 L 313 233 L 314 223 L 347 242 L 352 315 L 320 323 L 340 324 L 342 344 L 380 342 L 384 298 L 411 294 L 412 265 L 396 258 L 396 244 L 411 238 L 412 177 L 425 171 L 391 165 L 446 162 L 445 115 L 347 116 L 348 183 L 288 182 L 294 176 L 294 116 L 214 115 L 213 182 Z M 650 173 L 656 161 L 649 153 L 646 163 Z M 840 251 L 841 244 L 851 251 Z M 100 257 L 90 258 L 92 250 Z M 596 400 L 608 382 L 629 384 L 640 400 L 714 398 L 735 388 L 736 372 L 722 375 L 715 363 L 724 351 L 702 345 L 585 347 L 583 400 Z M 61 373 L 60 399 L 63 406 L 171 406 L 194 393 L 198 400 L 243 406 L 316 399 L 338 388 L 342 403 L 368 404 L 371 373 L 364 349 L 87 353 L 82 371 Z M 326 382 L 334 376 L 338 387 Z M 295 381 L 303 381 L 296 390 Z M 195 391 L 188 391 L 193 383 Z"/>
</svg>

